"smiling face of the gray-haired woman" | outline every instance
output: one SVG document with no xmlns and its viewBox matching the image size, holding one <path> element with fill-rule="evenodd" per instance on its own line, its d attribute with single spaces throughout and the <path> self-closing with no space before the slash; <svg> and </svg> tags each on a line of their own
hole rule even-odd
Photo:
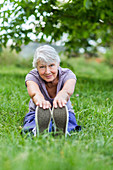
<svg viewBox="0 0 113 170">
<path fill-rule="evenodd" d="M 59 64 L 53 62 L 51 64 L 47 64 L 44 61 L 38 61 L 37 69 L 40 77 L 46 82 L 52 82 L 57 78 L 58 75 L 58 67 Z"/>
</svg>

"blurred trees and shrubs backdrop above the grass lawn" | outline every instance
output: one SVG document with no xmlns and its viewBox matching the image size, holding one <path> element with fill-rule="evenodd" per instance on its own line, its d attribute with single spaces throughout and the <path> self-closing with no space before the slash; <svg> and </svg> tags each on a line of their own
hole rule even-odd
<svg viewBox="0 0 113 170">
<path fill-rule="evenodd" d="M 112 0 L 0 1 L 0 63 L 31 66 L 40 43 L 54 46 L 63 60 L 95 57 L 113 66 Z"/>
</svg>

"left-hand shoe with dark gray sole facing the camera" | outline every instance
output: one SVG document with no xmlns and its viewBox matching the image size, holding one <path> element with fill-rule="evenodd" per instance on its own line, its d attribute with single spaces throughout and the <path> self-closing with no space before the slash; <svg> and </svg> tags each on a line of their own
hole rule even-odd
<svg viewBox="0 0 113 170">
<path fill-rule="evenodd" d="M 51 121 L 51 110 L 36 107 L 35 111 L 35 122 L 36 122 L 36 134 L 39 136 L 45 130 L 49 132 L 49 124 Z"/>
</svg>

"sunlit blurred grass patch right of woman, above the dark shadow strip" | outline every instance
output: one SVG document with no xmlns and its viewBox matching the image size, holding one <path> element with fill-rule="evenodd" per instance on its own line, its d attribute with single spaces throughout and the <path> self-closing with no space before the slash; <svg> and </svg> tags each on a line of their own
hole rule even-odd
<svg viewBox="0 0 113 170">
<path fill-rule="evenodd" d="M 85 77 L 86 79 L 113 79 L 113 68 L 110 68 L 109 65 L 106 65 L 104 61 L 98 62 L 97 59 L 85 59 L 84 56 L 80 58 L 68 59 L 68 63 L 75 70 L 77 77 Z"/>
</svg>

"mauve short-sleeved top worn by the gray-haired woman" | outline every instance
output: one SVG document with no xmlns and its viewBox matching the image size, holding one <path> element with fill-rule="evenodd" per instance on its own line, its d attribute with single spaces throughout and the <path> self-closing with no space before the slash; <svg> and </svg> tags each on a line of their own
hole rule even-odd
<svg viewBox="0 0 113 170">
<path fill-rule="evenodd" d="M 58 81 L 58 85 L 57 85 L 57 92 L 56 94 L 63 88 L 64 83 L 69 80 L 69 79 L 76 79 L 75 74 L 67 69 L 67 68 L 58 68 L 58 72 L 59 72 L 59 81 Z M 39 89 L 41 91 L 41 93 L 43 94 L 45 100 L 49 101 L 51 103 L 51 105 L 53 106 L 53 98 L 50 98 L 46 86 L 45 86 L 45 81 L 40 77 L 37 68 L 31 70 L 25 78 L 25 84 L 26 81 L 34 81 L 35 83 L 38 84 Z M 74 113 L 73 107 L 71 105 L 71 101 L 70 99 L 67 102 L 67 108 L 68 111 Z M 29 111 L 35 111 L 36 109 L 36 105 L 33 103 L 32 99 L 30 99 L 29 102 Z"/>
</svg>

